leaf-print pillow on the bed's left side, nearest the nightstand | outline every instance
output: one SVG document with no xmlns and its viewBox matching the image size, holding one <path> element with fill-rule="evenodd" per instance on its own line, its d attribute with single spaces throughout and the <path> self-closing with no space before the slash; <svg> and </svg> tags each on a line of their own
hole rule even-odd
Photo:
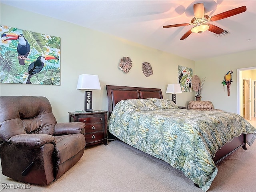
<svg viewBox="0 0 256 192">
<path fill-rule="evenodd" d="M 118 102 L 118 105 L 125 112 L 156 110 L 156 105 L 150 99 L 127 99 Z"/>
</svg>

